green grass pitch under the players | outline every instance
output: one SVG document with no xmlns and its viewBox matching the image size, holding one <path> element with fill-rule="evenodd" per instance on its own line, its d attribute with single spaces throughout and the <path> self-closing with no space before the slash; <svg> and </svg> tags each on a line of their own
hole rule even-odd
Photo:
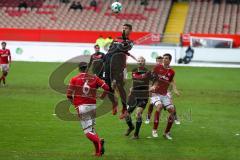
<svg viewBox="0 0 240 160">
<path fill-rule="evenodd" d="M 62 121 L 53 115 L 55 105 L 65 99 L 48 84 L 50 74 L 58 66 L 59 63 L 12 64 L 8 86 L 0 88 L 1 160 L 96 159 L 80 123 Z M 151 136 L 152 123 L 143 123 L 139 140 L 125 137 L 124 121 L 109 112 L 97 118 L 98 134 L 106 140 L 106 153 L 99 159 L 240 159 L 240 69 L 174 68 L 181 92 L 174 102 L 181 125 L 173 126 L 173 140 L 162 136 L 147 138 Z M 130 81 L 126 88 L 129 84 Z M 166 115 L 163 111 L 160 135 Z"/>
</svg>

